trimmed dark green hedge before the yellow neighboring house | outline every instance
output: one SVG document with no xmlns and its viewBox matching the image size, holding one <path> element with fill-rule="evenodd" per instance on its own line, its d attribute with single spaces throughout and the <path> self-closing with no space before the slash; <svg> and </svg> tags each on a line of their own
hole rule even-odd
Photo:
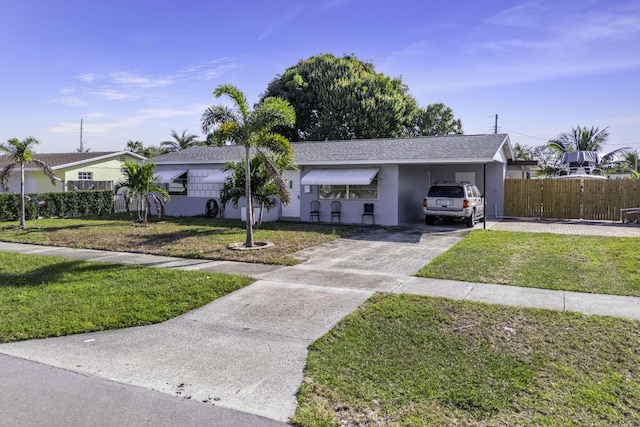
<svg viewBox="0 0 640 427">
<path fill-rule="evenodd" d="M 102 215 L 114 209 L 113 191 L 69 191 L 25 195 L 26 219 Z M 0 194 L 0 222 L 20 218 L 20 195 Z"/>
</svg>

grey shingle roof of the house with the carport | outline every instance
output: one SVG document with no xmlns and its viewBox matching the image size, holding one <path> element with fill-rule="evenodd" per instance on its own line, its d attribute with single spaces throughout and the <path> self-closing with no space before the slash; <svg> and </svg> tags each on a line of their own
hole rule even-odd
<svg viewBox="0 0 640 427">
<path fill-rule="evenodd" d="M 352 139 L 292 143 L 298 165 L 489 163 L 501 150 L 513 157 L 507 134 L 448 135 L 418 138 Z M 204 164 L 237 161 L 244 147 L 197 146 L 151 159 L 156 164 Z"/>
</svg>

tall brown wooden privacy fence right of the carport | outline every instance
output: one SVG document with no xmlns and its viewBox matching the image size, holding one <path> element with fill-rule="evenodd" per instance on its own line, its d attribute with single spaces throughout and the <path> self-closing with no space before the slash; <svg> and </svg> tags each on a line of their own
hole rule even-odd
<svg viewBox="0 0 640 427">
<path fill-rule="evenodd" d="M 507 179 L 504 216 L 549 219 L 621 219 L 640 207 L 640 180 Z"/>
</svg>

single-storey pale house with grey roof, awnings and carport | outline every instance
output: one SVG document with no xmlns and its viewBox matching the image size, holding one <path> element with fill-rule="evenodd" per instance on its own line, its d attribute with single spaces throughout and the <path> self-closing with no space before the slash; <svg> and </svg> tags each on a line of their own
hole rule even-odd
<svg viewBox="0 0 640 427">
<path fill-rule="evenodd" d="M 330 222 L 331 202 L 342 205 L 343 223 L 360 223 L 365 203 L 373 203 L 375 223 L 399 225 L 422 220 L 422 199 L 435 181 L 471 181 L 486 195 L 488 217 L 504 205 L 507 162 L 513 158 L 507 134 L 450 135 L 293 143 L 299 170 L 288 170 L 291 203 L 278 205 L 272 219 L 310 221 L 310 205 L 320 202 L 320 220 Z M 167 215 L 203 214 L 218 200 L 226 174 L 239 161 L 238 146 L 192 147 L 153 158 L 156 174 L 171 191 Z M 183 188 L 186 191 L 183 191 Z M 241 218 L 240 206 L 226 206 L 226 218 Z"/>
</svg>

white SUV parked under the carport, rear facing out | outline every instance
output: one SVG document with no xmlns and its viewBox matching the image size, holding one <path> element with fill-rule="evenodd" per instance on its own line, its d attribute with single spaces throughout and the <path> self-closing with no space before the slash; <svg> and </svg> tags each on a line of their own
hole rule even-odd
<svg viewBox="0 0 640 427">
<path fill-rule="evenodd" d="M 422 209 L 427 225 L 436 218 L 460 218 L 473 227 L 477 220 L 484 220 L 484 197 L 470 182 L 438 181 L 429 188 Z"/>
</svg>

